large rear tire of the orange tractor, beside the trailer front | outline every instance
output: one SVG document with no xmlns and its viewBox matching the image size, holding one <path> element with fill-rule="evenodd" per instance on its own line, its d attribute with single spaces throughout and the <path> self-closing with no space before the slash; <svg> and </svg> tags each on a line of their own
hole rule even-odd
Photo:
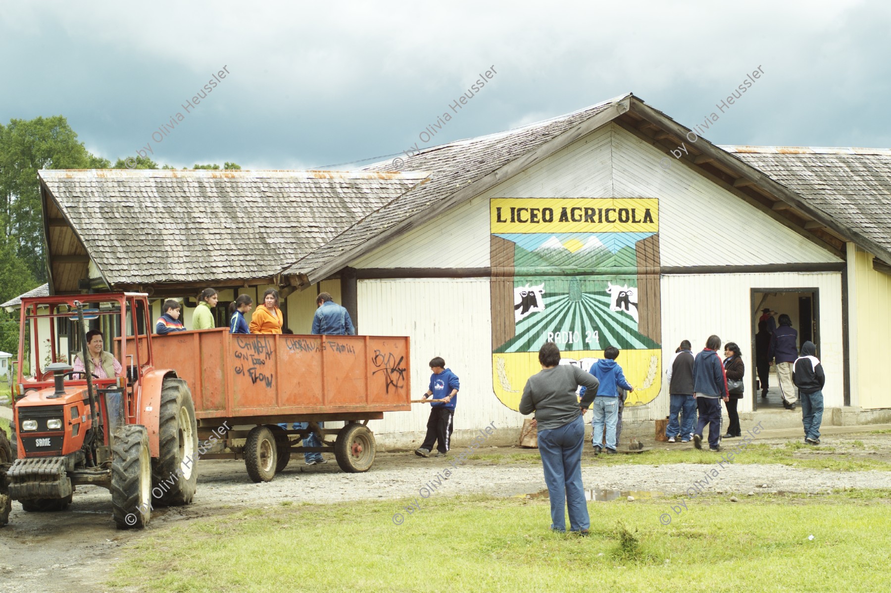
<svg viewBox="0 0 891 593">
<path fill-rule="evenodd" d="M 164 379 L 158 416 L 159 455 L 151 459 L 151 486 L 163 493 L 155 502 L 162 507 L 190 504 L 198 485 L 198 424 L 183 379 Z"/>
</svg>

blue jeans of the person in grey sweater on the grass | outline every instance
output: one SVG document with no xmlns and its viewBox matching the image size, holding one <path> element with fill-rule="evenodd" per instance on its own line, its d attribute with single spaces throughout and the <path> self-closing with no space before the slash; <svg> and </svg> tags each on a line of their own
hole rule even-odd
<svg viewBox="0 0 891 593">
<path fill-rule="evenodd" d="M 582 485 L 584 420 L 575 420 L 550 430 L 538 431 L 538 452 L 542 456 L 544 483 L 551 497 L 551 529 L 566 531 L 564 508 L 569 508 L 569 529 L 588 529 L 588 504 Z"/>
</svg>

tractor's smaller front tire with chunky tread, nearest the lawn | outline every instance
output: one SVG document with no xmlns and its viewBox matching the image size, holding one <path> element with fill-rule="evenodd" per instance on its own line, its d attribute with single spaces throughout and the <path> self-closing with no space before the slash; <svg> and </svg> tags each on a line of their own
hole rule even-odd
<svg viewBox="0 0 891 593">
<path fill-rule="evenodd" d="M 145 426 L 120 428 L 111 455 L 111 516 L 118 529 L 145 527 L 151 519 L 151 452 Z"/>
</svg>

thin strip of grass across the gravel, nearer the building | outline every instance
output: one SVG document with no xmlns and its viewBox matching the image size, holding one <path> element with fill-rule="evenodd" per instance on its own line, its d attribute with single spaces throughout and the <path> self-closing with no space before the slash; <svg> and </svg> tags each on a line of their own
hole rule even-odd
<svg viewBox="0 0 891 593">
<path fill-rule="evenodd" d="M 733 451 L 735 443 L 728 440 L 723 443 L 724 451 Z M 882 459 L 874 459 L 870 456 L 859 454 L 865 450 L 862 441 L 838 441 L 831 445 L 806 445 L 805 443 L 784 443 L 782 445 L 769 445 L 764 443 L 751 443 L 743 451 L 736 454 L 733 463 L 778 463 L 785 466 L 807 467 L 811 469 L 835 469 L 846 471 L 880 469 L 891 471 L 891 463 Z M 830 451 L 832 455 L 819 457 L 805 457 L 814 451 Z M 511 453 L 475 453 L 468 459 L 490 461 L 492 463 L 541 463 L 538 451 Z M 641 453 L 620 453 L 617 455 L 600 455 L 594 457 L 585 448 L 582 458 L 583 466 L 606 465 L 648 465 L 661 466 L 674 463 L 715 463 L 721 459 L 720 454 L 711 451 L 698 451 L 695 449 L 667 450 L 661 444 L 650 451 Z"/>
</svg>

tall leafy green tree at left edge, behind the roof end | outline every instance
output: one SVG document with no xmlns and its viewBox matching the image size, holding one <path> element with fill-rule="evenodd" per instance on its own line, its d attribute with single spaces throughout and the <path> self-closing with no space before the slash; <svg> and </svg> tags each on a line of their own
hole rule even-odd
<svg viewBox="0 0 891 593">
<path fill-rule="evenodd" d="M 62 116 L 12 119 L 0 126 L 0 223 L 33 283 L 46 281 L 37 171 L 103 166 L 108 160 L 90 154 Z"/>
</svg>

